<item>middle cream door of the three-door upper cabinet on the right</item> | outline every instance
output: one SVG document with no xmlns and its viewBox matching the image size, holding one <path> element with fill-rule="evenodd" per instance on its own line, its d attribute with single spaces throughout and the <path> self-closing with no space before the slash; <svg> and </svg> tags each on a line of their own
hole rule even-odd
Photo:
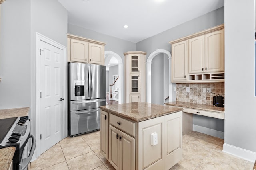
<svg viewBox="0 0 256 170">
<path fill-rule="evenodd" d="M 188 40 L 189 73 L 204 72 L 204 35 Z"/>
</svg>

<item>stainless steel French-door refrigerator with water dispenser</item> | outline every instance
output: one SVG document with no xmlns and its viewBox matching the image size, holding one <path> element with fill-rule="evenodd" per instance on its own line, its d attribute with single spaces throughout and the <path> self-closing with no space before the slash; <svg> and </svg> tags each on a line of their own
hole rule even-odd
<svg viewBox="0 0 256 170">
<path fill-rule="evenodd" d="M 100 129 L 100 106 L 106 105 L 106 66 L 68 63 L 68 132 Z"/>
</svg>

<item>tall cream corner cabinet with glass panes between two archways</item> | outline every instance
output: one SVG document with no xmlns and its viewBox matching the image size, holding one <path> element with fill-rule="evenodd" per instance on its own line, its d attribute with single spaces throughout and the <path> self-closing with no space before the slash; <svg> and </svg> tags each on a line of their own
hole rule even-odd
<svg viewBox="0 0 256 170">
<path fill-rule="evenodd" d="M 143 51 L 124 53 L 125 103 L 146 102 L 146 54 Z"/>
</svg>

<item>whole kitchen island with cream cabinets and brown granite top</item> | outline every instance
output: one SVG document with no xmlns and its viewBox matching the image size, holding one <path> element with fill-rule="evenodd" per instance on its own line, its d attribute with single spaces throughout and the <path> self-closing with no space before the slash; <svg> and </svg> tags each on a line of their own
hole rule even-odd
<svg viewBox="0 0 256 170">
<path fill-rule="evenodd" d="M 182 160 L 181 108 L 145 102 L 100 108 L 100 150 L 116 170 L 168 170 Z"/>
</svg>

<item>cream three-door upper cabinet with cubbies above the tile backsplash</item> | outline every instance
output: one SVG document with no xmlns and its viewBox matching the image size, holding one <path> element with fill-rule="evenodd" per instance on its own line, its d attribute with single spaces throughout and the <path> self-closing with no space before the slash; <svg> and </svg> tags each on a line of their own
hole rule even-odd
<svg viewBox="0 0 256 170">
<path fill-rule="evenodd" d="M 224 82 L 224 24 L 169 43 L 172 82 Z"/>
</svg>

